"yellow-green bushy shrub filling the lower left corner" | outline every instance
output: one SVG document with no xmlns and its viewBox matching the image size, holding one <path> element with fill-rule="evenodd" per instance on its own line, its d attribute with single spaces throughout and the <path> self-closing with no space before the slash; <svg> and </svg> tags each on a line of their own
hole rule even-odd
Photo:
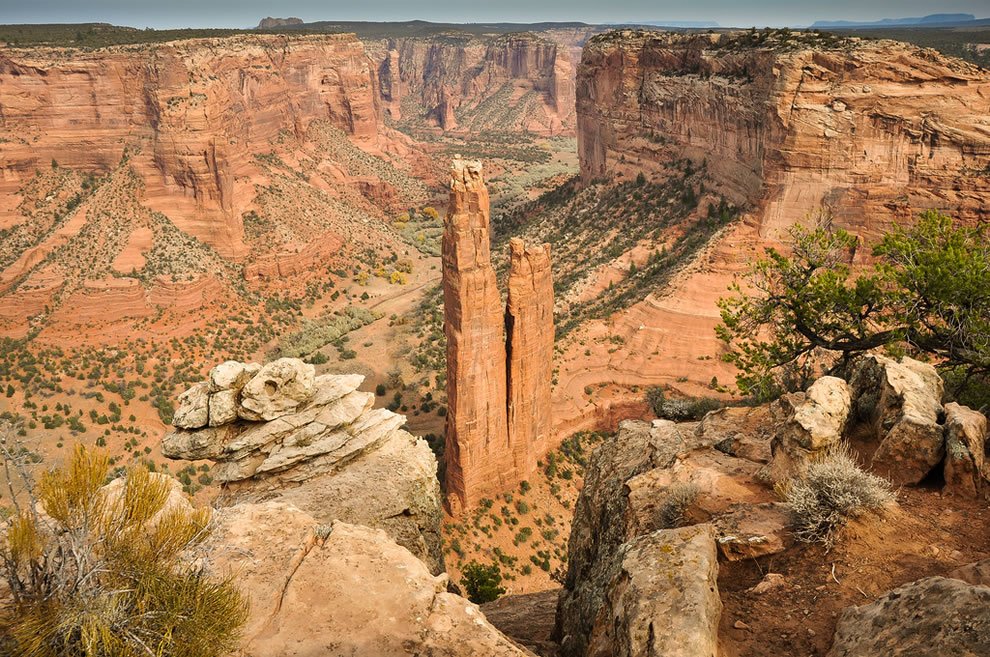
<svg viewBox="0 0 990 657">
<path fill-rule="evenodd" d="M 234 648 L 246 601 L 185 558 L 206 534 L 208 510 L 168 505 L 169 481 L 140 466 L 110 492 L 109 471 L 105 455 L 80 446 L 28 487 L 40 505 L 19 504 L 0 552 L 12 598 L 0 612 L 0 653 L 213 657 Z"/>
</svg>

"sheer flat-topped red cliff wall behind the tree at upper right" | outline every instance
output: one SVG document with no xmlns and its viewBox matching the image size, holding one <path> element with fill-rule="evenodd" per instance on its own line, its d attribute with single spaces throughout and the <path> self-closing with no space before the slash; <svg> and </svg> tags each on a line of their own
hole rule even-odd
<svg viewBox="0 0 990 657">
<path fill-rule="evenodd" d="M 764 237 L 821 208 L 867 238 L 930 207 L 988 217 L 990 74 L 931 50 L 611 32 L 577 84 L 585 181 L 704 162 Z"/>
</svg>

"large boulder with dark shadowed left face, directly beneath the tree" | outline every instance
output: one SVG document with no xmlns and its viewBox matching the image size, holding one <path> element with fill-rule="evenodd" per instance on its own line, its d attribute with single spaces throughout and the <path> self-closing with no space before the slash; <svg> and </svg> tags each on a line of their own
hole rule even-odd
<svg viewBox="0 0 990 657">
<path fill-rule="evenodd" d="M 855 413 L 877 442 L 871 467 L 896 485 L 917 484 L 945 456 L 939 416 L 944 386 L 931 365 L 863 356 L 849 380 Z"/>
</svg>

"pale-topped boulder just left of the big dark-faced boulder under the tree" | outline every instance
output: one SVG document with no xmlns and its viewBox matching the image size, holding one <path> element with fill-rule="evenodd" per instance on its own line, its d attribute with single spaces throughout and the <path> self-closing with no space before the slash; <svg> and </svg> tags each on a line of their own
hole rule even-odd
<svg viewBox="0 0 990 657">
<path fill-rule="evenodd" d="M 777 400 L 770 407 L 776 427 L 771 479 L 782 482 L 800 476 L 809 463 L 835 448 L 842 440 L 851 406 L 849 385 L 834 376 L 824 376 L 807 391 Z"/>
</svg>

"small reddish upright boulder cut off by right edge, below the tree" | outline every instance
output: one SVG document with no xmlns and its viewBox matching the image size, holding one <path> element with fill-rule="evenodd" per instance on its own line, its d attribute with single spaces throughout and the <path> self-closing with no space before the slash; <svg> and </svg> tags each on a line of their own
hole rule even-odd
<svg viewBox="0 0 990 657">
<path fill-rule="evenodd" d="M 984 486 L 988 467 L 985 449 L 987 418 L 983 413 L 945 405 L 945 489 L 956 495 L 976 497 Z"/>
</svg>

